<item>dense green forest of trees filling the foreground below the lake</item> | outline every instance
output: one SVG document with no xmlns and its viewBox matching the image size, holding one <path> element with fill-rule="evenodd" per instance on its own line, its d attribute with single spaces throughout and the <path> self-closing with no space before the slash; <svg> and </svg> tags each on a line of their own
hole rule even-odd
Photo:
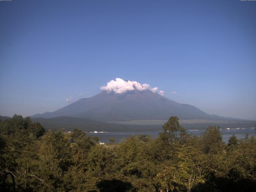
<svg viewBox="0 0 256 192">
<path fill-rule="evenodd" d="M 256 188 L 256 139 L 219 127 L 188 134 L 175 116 L 158 138 L 98 144 L 84 131 L 45 130 L 29 117 L 0 122 L 0 191 L 241 192 Z"/>
</svg>

